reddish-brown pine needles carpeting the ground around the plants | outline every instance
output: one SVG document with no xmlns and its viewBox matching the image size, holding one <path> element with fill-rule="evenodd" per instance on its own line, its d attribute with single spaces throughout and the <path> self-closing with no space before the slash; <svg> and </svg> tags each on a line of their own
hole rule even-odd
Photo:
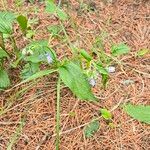
<svg viewBox="0 0 150 150">
<path fill-rule="evenodd" d="M 90 4 L 91 1 L 84 1 Z M 122 109 L 123 104 L 150 105 L 150 55 L 135 57 L 135 53 L 144 48 L 150 49 L 150 1 L 114 0 L 104 3 L 95 0 L 95 11 L 80 9 L 78 1 L 62 1 L 64 10 L 72 21 L 66 21 L 65 27 L 70 41 L 79 48 L 90 51 L 96 37 L 105 36 L 104 46 L 110 55 L 112 43 L 126 42 L 131 53 L 114 60 L 116 72 L 110 75 L 106 90 L 101 87 L 100 79 L 92 90 L 99 103 L 89 103 L 76 99 L 67 88 L 61 89 L 61 150 L 149 150 L 150 126 L 129 117 Z M 68 5 L 68 8 L 66 7 Z M 40 7 L 37 14 L 34 7 Z M 7 5 L 8 10 L 27 12 L 30 18 L 40 21 L 34 26 L 37 34 L 34 39 L 48 39 L 46 27 L 58 24 L 58 19 L 44 12 L 44 5 L 24 3 L 16 9 L 15 2 Z M 27 9 L 28 8 L 28 9 Z M 3 7 L 0 4 L 0 9 Z M 73 26 L 76 25 L 77 28 Z M 16 27 L 15 38 L 18 47 L 23 48 L 28 41 L 22 41 Z M 63 36 L 63 33 L 61 33 Z M 50 44 L 56 50 L 58 58 L 70 56 L 70 48 L 60 39 L 51 39 Z M 11 48 L 7 45 L 8 49 Z M 117 61 L 117 63 L 116 63 Z M 121 62 L 121 64 L 118 62 Z M 13 84 L 19 81 L 16 72 L 11 74 Z M 133 84 L 123 85 L 124 80 L 133 80 Z M 50 75 L 38 80 L 22 94 L 16 93 L 30 85 L 20 85 L 8 92 L 0 93 L 0 150 L 7 149 L 8 143 L 25 118 L 25 125 L 13 145 L 14 150 L 54 150 L 55 149 L 55 113 L 56 113 L 57 76 Z M 9 107 L 8 107 L 9 106 Z M 99 116 L 99 109 L 112 111 L 114 128 Z M 71 115 L 73 114 L 73 115 Z M 90 139 L 86 139 L 84 127 L 95 117 L 99 117 L 100 129 Z"/>
</svg>

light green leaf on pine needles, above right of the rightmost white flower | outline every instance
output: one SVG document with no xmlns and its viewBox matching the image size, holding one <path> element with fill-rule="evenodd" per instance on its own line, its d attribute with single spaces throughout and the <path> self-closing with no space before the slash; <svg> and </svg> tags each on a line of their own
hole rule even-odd
<svg viewBox="0 0 150 150">
<path fill-rule="evenodd" d="M 130 48 L 126 44 L 120 43 L 117 45 L 113 45 L 111 47 L 111 52 L 112 52 L 112 55 L 114 56 L 120 56 L 120 55 L 129 53 Z"/>
</svg>

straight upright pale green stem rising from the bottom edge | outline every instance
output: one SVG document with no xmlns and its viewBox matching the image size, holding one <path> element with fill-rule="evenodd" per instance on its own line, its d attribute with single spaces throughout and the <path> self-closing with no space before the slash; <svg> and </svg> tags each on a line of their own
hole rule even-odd
<svg viewBox="0 0 150 150">
<path fill-rule="evenodd" d="M 59 150 L 60 143 L 60 77 L 57 82 L 57 106 L 56 106 L 56 150 Z"/>
</svg>

